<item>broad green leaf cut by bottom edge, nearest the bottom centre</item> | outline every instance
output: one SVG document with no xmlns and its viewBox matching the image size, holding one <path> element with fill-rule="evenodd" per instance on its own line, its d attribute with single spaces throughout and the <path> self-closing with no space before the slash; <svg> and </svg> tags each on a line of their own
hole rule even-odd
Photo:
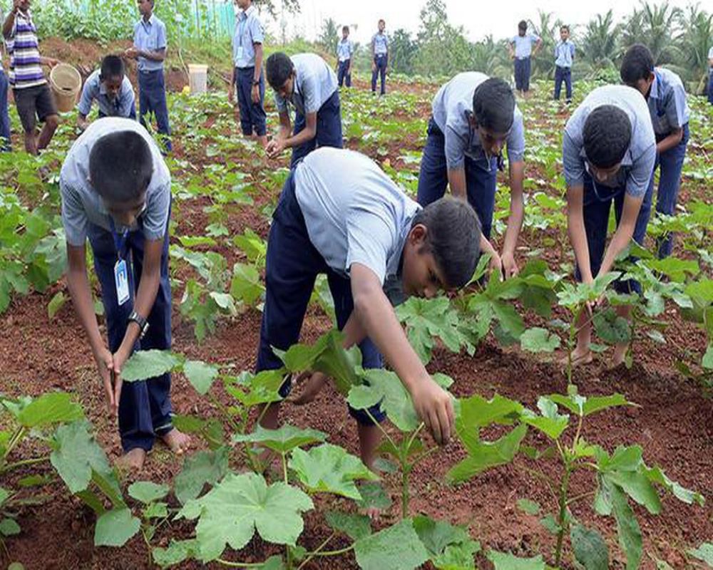
<svg viewBox="0 0 713 570">
<path fill-rule="evenodd" d="M 411 519 L 356 541 L 354 554 L 362 570 L 413 570 L 429 559 Z"/>
</svg>

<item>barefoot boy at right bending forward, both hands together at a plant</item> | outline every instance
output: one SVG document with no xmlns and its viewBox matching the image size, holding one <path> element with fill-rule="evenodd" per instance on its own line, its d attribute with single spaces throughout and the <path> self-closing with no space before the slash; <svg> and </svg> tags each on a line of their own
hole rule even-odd
<svg viewBox="0 0 713 570">
<path fill-rule="evenodd" d="M 641 93 L 626 86 L 593 90 L 567 122 L 562 153 L 575 276 L 591 283 L 612 270 L 632 238 L 638 244 L 644 242 L 656 139 Z M 612 202 L 617 229 L 606 247 Z M 617 281 L 615 289 L 640 292 L 633 281 Z M 617 307 L 617 313 L 627 317 L 630 308 Z M 590 318 L 588 311 L 583 311 L 577 323 L 575 364 L 592 360 Z M 614 366 L 624 361 L 626 350 L 627 343 L 615 346 Z"/>
</svg>

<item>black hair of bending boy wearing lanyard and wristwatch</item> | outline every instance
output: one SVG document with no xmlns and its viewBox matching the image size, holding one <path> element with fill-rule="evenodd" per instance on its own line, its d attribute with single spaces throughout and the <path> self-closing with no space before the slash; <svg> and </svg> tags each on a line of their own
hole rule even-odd
<svg viewBox="0 0 713 570">
<path fill-rule="evenodd" d="M 89 178 L 98 194 L 115 204 L 133 202 L 151 182 L 153 156 L 139 133 L 119 130 L 104 135 L 89 153 Z"/>
</svg>

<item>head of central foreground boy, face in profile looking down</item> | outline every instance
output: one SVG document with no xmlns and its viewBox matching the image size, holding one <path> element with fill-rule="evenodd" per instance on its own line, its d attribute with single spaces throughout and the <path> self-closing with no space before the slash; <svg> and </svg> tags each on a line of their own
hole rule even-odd
<svg viewBox="0 0 713 570">
<path fill-rule="evenodd" d="M 481 224 L 464 200 L 444 197 L 421 209 L 406 238 L 404 293 L 431 299 L 466 286 L 481 254 Z"/>
</svg>

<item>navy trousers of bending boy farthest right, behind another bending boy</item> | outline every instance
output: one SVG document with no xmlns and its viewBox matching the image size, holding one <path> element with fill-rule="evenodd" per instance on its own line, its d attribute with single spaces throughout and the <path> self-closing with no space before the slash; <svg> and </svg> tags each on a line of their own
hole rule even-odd
<svg viewBox="0 0 713 570">
<path fill-rule="evenodd" d="M 649 192 L 654 190 L 654 175 L 656 169 L 659 171 L 659 189 L 656 194 L 656 211 L 659 214 L 673 216 L 676 213 L 676 203 L 678 202 L 678 191 L 681 187 L 681 171 L 683 170 L 683 160 L 686 157 L 686 146 L 689 138 L 688 123 L 683 125 L 683 137 L 673 148 L 656 155 L 654 172 L 651 174 L 649 182 Z M 657 136 L 657 142 L 666 138 L 667 135 Z M 662 259 L 671 255 L 673 251 L 673 235 L 658 240 L 658 256 Z"/>
</svg>

